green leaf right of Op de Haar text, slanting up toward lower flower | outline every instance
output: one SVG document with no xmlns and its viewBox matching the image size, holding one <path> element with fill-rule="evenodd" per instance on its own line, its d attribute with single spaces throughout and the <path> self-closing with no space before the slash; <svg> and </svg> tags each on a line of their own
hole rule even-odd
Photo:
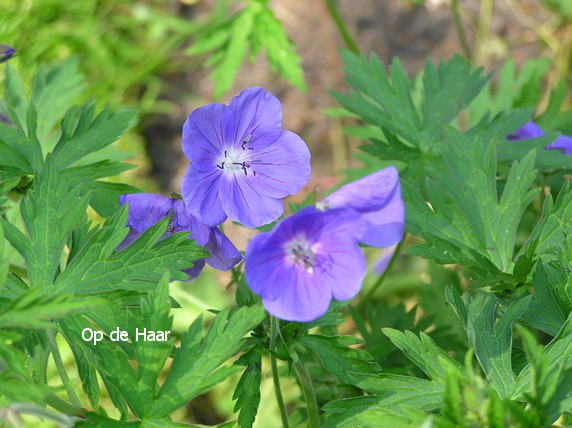
<svg viewBox="0 0 572 428">
<path fill-rule="evenodd" d="M 224 310 L 211 322 L 204 338 L 201 337 L 202 317 L 197 318 L 183 335 L 167 379 L 148 416 L 167 416 L 239 370 L 238 366 L 220 366 L 240 350 L 244 335 L 265 316 L 261 305 L 239 308 L 230 317 L 228 310 Z"/>
</svg>

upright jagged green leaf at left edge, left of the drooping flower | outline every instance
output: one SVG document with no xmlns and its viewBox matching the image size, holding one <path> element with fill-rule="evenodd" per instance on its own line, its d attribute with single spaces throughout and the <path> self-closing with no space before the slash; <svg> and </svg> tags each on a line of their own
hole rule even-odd
<svg viewBox="0 0 572 428">
<path fill-rule="evenodd" d="M 52 285 L 66 241 L 84 215 L 88 200 L 80 196 L 79 188 L 69 188 L 48 156 L 20 207 L 28 237 L 2 220 L 6 238 L 26 260 L 32 287 Z"/>
</svg>

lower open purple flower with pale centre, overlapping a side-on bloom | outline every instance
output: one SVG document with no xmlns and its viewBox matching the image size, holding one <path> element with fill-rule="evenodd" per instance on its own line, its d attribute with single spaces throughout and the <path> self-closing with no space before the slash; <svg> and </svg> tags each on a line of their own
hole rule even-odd
<svg viewBox="0 0 572 428">
<path fill-rule="evenodd" d="M 312 321 L 332 298 L 348 300 L 360 290 L 366 262 L 355 237 L 364 228 L 353 210 L 306 207 L 250 240 L 248 286 L 272 315 Z"/>
</svg>

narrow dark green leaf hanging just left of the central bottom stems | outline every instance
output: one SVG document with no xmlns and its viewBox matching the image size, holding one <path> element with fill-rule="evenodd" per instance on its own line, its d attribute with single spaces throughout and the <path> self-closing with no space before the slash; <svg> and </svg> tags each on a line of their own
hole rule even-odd
<svg viewBox="0 0 572 428">
<path fill-rule="evenodd" d="M 252 427 L 260 404 L 260 380 L 262 378 L 262 346 L 254 346 L 236 362 L 244 366 L 244 372 L 236 384 L 232 399 L 236 400 L 234 412 L 238 415 L 238 426 Z"/>
</svg>

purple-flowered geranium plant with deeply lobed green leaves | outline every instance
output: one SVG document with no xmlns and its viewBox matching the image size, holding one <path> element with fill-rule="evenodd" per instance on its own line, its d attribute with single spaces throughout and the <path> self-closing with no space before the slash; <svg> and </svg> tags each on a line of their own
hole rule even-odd
<svg viewBox="0 0 572 428">
<path fill-rule="evenodd" d="M 109 148 L 133 110 L 61 96 L 83 84 L 73 61 L 40 68 L 29 92 L 3 65 L 1 418 L 192 426 L 177 409 L 226 380 L 223 425 L 267 426 L 269 373 L 284 427 L 570 422 L 565 86 L 536 112 L 519 105 L 529 86 L 499 94 L 506 82 L 458 56 L 415 83 L 398 60 L 343 60 L 349 91 L 334 97 L 365 167 L 286 210 L 310 152 L 263 88 L 190 112 L 181 189 L 159 195 L 106 180 L 132 167 Z M 225 221 L 251 230 L 244 252 Z M 192 288 L 206 264 L 230 271 L 236 304 L 175 335 L 170 284 Z M 428 278 L 419 308 L 378 298 L 390 276 L 411 280 L 404 266 Z"/>
</svg>

